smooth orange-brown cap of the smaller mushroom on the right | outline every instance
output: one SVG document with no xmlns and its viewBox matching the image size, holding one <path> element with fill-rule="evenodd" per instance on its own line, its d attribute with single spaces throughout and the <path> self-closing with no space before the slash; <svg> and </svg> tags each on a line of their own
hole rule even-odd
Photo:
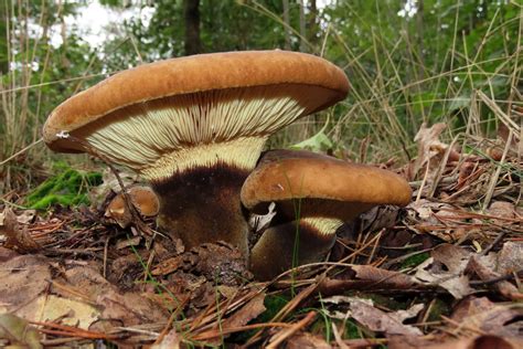
<svg viewBox="0 0 523 349">
<path fill-rule="evenodd" d="M 412 190 L 391 171 L 349 163 L 310 151 L 268 151 L 242 188 L 242 203 L 255 213 L 270 202 L 287 218 L 350 220 L 377 204 L 405 205 Z"/>
</svg>

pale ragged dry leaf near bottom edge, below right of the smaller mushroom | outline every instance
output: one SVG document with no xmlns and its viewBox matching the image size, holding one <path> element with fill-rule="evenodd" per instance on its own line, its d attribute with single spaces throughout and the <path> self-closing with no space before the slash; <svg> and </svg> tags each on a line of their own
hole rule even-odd
<svg viewBox="0 0 523 349">
<path fill-rule="evenodd" d="M 348 317 L 352 317 L 372 331 L 384 332 L 389 336 L 423 335 L 418 328 L 403 324 L 403 321 L 406 319 L 417 316 L 417 314 L 424 308 L 423 304 L 416 304 L 407 310 L 385 313 L 375 308 L 372 300 L 357 297 L 333 296 L 324 298 L 323 303 L 337 305 L 349 304 L 349 309 L 345 314 L 337 311 L 334 314 L 330 314 L 330 316 L 342 320 L 346 319 Z"/>
</svg>

